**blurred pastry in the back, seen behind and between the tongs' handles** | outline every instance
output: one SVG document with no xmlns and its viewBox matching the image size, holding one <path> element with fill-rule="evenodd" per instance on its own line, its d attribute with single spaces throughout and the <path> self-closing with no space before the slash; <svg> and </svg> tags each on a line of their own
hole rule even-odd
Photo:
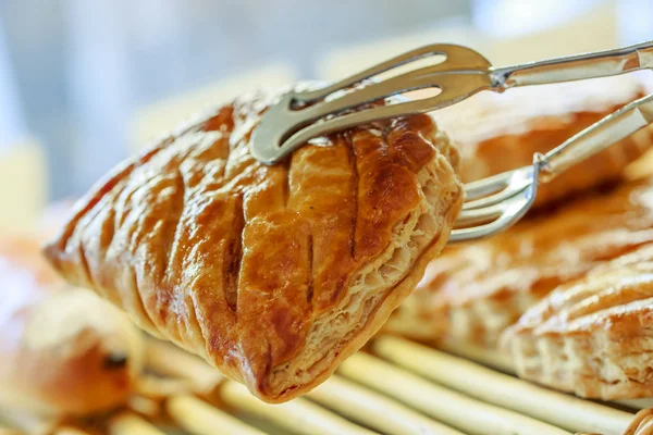
<svg viewBox="0 0 653 435">
<path fill-rule="evenodd" d="M 645 95 L 632 76 L 482 92 L 435 112 L 438 123 L 460 145 L 460 178 L 472 182 L 532 163 L 626 103 Z M 538 189 L 535 207 L 618 179 L 653 144 L 653 127 L 577 164 Z"/>
</svg>

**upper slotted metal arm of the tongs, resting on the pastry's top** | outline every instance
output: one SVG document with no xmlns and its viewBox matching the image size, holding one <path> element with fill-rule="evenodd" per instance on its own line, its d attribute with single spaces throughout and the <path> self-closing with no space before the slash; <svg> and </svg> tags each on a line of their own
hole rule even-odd
<svg viewBox="0 0 653 435">
<path fill-rule="evenodd" d="M 364 83 L 397 66 L 431 57 L 440 60 L 385 80 Z M 571 82 L 643 69 L 653 70 L 653 41 L 506 67 L 492 66 L 485 58 L 466 47 L 432 45 L 330 86 L 283 95 L 254 130 L 251 153 L 264 164 L 274 164 L 313 137 L 372 121 L 442 109 L 481 90 L 502 92 L 516 86 Z M 386 104 L 381 105 L 368 104 L 429 88 L 438 89 L 439 94 L 408 101 L 386 100 Z"/>
</svg>

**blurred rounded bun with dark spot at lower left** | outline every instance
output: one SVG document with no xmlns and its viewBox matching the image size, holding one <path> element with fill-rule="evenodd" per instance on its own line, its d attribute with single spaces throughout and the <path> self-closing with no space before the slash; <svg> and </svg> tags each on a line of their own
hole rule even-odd
<svg viewBox="0 0 653 435">
<path fill-rule="evenodd" d="M 123 405 L 143 350 L 128 319 L 67 287 L 36 239 L 4 237 L 0 271 L 0 406 L 88 415 Z"/>
</svg>

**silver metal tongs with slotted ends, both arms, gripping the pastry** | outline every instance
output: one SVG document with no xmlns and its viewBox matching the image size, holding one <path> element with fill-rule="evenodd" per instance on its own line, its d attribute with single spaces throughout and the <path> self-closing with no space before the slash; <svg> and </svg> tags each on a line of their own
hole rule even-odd
<svg viewBox="0 0 653 435">
<path fill-rule="evenodd" d="M 426 58 L 434 64 L 370 79 Z M 653 41 L 515 66 L 493 67 L 478 52 L 456 45 L 408 51 L 333 85 L 289 91 L 271 105 L 255 128 L 251 153 L 275 164 L 309 139 L 377 120 L 424 113 L 463 101 L 481 90 L 572 82 L 653 69 Z M 435 88 L 434 97 L 370 104 L 411 90 Z M 353 109 L 359 109 L 353 111 Z M 532 206 L 539 183 L 547 183 L 574 164 L 653 123 L 653 94 L 605 116 L 533 164 L 465 185 L 466 202 L 451 241 L 486 237 L 515 224 Z"/>
</svg>

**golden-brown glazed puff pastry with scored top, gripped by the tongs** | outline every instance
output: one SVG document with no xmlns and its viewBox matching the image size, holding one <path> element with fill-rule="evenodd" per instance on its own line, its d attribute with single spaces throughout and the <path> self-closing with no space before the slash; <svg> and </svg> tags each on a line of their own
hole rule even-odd
<svg viewBox="0 0 653 435">
<path fill-rule="evenodd" d="M 315 139 L 264 166 L 272 94 L 237 99 L 100 181 L 47 254 L 72 283 L 270 402 L 324 381 L 446 244 L 457 150 L 428 115 Z"/>
</svg>

